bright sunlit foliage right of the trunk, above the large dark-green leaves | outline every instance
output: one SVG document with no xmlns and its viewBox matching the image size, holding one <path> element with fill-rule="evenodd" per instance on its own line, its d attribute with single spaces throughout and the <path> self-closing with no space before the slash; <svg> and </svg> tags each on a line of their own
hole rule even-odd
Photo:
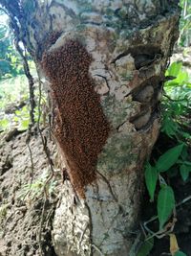
<svg viewBox="0 0 191 256">
<path fill-rule="evenodd" d="M 161 131 L 169 137 L 190 139 L 191 135 L 184 131 L 189 127 L 189 111 L 191 111 L 191 81 L 181 62 L 174 62 L 166 71 L 167 77 L 175 77 L 165 82 L 165 94 L 162 103 Z M 182 126 L 183 125 L 183 126 Z"/>
</svg>

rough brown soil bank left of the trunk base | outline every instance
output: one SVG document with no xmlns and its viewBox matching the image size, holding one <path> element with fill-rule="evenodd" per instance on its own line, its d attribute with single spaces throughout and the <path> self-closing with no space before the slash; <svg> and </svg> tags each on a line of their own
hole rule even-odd
<svg viewBox="0 0 191 256">
<path fill-rule="evenodd" d="M 31 154 L 27 132 L 12 134 L 9 141 L 2 134 L 0 140 L 0 256 L 53 256 L 52 218 L 61 178 L 54 175 L 45 198 L 50 170 L 40 136 L 32 134 Z M 55 158 L 52 141 L 49 148 Z"/>
</svg>

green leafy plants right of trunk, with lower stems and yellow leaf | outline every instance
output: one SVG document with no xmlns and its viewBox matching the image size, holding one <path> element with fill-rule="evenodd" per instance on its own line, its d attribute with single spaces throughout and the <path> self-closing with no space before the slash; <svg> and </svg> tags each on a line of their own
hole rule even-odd
<svg viewBox="0 0 191 256">
<path fill-rule="evenodd" d="M 138 250 L 138 256 L 146 256 L 154 245 L 153 237 L 170 236 L 170 252 L 173 256 L 186 256 L 180 251 L 173 229 L 176 222 L 176 198 L 166 177 L 180 173 L 186 181 L 191 173 L 188 148 L 191 145 L 189 109 L 191 110 L 191 81 L 181 62 L 173 62 L 166 71 L 164 100 L 162 102 L 162 128 L 177 144 L 159 155 L 152 163 L 145 165 L 145 183 L 150 200 L 157 202 L 157 216 L 144 223 L 148 237 Z M 175 172 L 176 171 L 176 172 Z M 159 231 L 147 227 L 151 221 L 159 221 Z"/>
</svg>

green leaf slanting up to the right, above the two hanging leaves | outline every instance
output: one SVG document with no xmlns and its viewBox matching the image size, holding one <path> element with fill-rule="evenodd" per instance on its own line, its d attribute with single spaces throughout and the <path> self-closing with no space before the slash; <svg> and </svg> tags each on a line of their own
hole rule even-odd
<svg viewBox="0 0 191 256">
<path fill-rule="evenodd" d="M 183 144 L 176 146 L 168 151 L 165 151 L 156 164 L 156 167 L 160 173 L 166 172 L 170 169 L 179 159 L 180 153 L 183 149 Z"/>
</svg>

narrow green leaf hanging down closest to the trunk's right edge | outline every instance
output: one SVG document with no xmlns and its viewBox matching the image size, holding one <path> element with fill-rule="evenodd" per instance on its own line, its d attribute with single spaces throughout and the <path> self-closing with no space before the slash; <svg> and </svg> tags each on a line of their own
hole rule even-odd
<svg viewBox="0 0 191 256">
<path fill-rule="evenodd" d="M 146 182 L 146 187 L 149 192 L 149 196 L 151 198 L 151 201 L 153 201 L 155 190 L 156 190 L 156 184 L 157 184 L 157 180 L 158 180 L 157 169 L 155 167 L 151 166 L 149 163 L 147 163 L 144 175 L 145 175 L 145 182 Z"/>
</svg>

